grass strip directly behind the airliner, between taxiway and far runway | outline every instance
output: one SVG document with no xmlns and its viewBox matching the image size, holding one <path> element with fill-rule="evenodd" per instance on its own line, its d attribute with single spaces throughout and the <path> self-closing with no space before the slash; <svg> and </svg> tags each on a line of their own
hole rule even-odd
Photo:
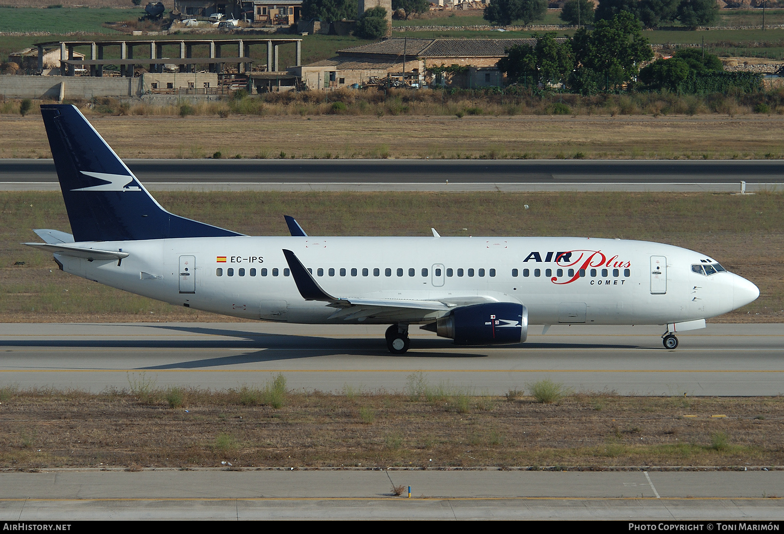
<svg viewBox="0 0 784 534">
<path fill-rule="evenodd" d="M 784 197 L 719 193 L 156 193 L 178 215 L 249 235 L 594 236 L 652 240 L 710 254 L 760 287 L 713 322 L 784 321 Z M 524 205 L 528 204 L 529 209 Z M 655 221 L 655 224 L 651 222 Z M 234 320 L 101 286 L 20 243 L 69 231 L 60 193 L 0 193 L 0 321 Z"/>
</svg>

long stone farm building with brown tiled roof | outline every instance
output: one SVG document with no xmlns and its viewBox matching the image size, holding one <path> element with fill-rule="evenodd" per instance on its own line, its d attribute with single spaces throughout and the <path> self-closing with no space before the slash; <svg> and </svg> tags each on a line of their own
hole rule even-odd
<svg viewBox="0 0 784 534">
<path fill-rule="evenodd" d="M 385 78 L 395 82 L 405 78 L 406 85 L 419 86 L 500 86 L 504 77 L 496 63 L 506 56 L 506 49 L 522 44 L 533 45 L 535 39 L 391 38 L 338 50 L 336 57 L 291 70 L 310 89 L 338 89 Z M 433 67 L 437 68 L 428 72 Z"/>
</svg>

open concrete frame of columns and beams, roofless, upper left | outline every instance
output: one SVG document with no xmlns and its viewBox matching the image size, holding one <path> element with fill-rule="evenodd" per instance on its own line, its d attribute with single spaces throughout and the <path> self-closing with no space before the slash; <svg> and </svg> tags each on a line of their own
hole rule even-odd
<svg viewBox="0 0 784 534">
<path fill-rule="evenodd" d="M 132 78 L 135 73 L 136 65 L 146 65 L 150 72 L 163 72 L 164 65 L 176 65 L 180 72 L 194 72 L 203 70 L 205 67 L 209 72 L 222 72 L 226 64 L 236 65 L 238 73 L 251 70 L 252 63 L 266 63 L 267 70 L 279 70 L 278 58 L 279 47 L 285 44 L 296 46 L 295 62 L 300 64 L 302 58 L 302 39 L 264 39 L 264 38 L 244 38 L 244 39 L 157 39 L 139 41 L 49 41 L 36 43 L 38 48 L 38 72 L 44 70 L 44 51 L 53 47 L 60 49 L 60 69 L 67 76 L 74 76 L 78 65 L 89 68 L 91 76 L 103 76 L 103 69 L 108 65 L 119 68 L 120 76 Z M 223 47 L 231 47 L 236 50 L 236 56 L 226 56 Z M 266 61 L 253 59 L 251 47 L 263 46 L 266 48 Z M 90 59 L 78 59 L 78 52 L 74 49 L 78 47 L 89 47 Z M 206 52 L 206 57 L 194 55 L 194 47 L 201 47 L 202 52 Z M 112 59 L 104 58 L 106 49 L 114 52 Z M 134 57 L 136 49 L 142 49 L 144 56 Z M 172 54 L 172 48 L 175 53 Z M 117 53 L 119 52 L 119 53 Z M 198 52 L 198 50 L 197 50 Z M 175 57 L 171 57 L 175 56 Z M 201 66 L 198 67 L 198 66 Z"/>
</svg>

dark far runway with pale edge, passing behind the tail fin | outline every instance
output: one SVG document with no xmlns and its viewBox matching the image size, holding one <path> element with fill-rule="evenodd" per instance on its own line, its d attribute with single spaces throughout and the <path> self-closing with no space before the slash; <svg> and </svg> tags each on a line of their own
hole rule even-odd
<svg viewBox="0 0 784 534">
<path fill-rule="evenodd" d="M 784 162 L 670 160 L 126 160 L 151 190 L 780 189 Z M 0 160 L 0 190 L 58 189 L 52 160 Z"/>
</svg>

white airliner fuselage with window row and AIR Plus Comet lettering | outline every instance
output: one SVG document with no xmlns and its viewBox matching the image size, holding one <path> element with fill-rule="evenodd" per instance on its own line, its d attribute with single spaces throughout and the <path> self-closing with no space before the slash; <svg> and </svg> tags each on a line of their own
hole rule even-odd
<svg viewBox="0 0 784 534">
<path fill-rule="evenodd" d="M 440 301 L 477 295 L 521 302 L 532 324 L 678 323 L 730 312 L 759 294 L 731 272 L 694 272 L 692 265 L 715 263 L 704 254 L 644 241 L 238 236 L 78 245 L 122 249 L 129 256 L 118 265 L 56 254 L 66 272 L 173 305 L 290 323 L 346 321 L 328 319 L 335 308 L 326 302 L 303 299 L 283 249 L 293 251 L 337 298 Z M 362 321 L 389 322 L 348 322 Z"/>
</svg>

